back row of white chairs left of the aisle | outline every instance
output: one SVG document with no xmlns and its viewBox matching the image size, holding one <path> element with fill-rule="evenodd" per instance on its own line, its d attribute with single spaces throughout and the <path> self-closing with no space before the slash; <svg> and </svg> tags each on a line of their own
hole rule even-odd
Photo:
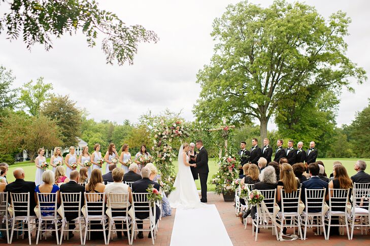
<svg viewBox="0 0 370 246">
<path fill-rule="evenodd" d="M 156 238 L 157 227 L 155 225 L 156 209 L 153 202 L 148 202 L 149 193 L 131 193 L 132 204 L 129 203 L 128 193 L 84 193 L 85 206 L 81 207 L 81 193 L 63 193 L 60 192 L 61 204 L 57 208 L 56 193 L 37 193 L 39 216 L 30 215 L 28 193 L 10 193 L 11 209 L 9 208 L 9 197 L 7 193 L 0 193 L 0 220 L 3 220 L 5 228 L 0 228 L 6 232 L 8 243 L 12 243 L 14 232 L 18 238 L 18 231 L 28 232 L 28 242 L 31 244 L 32 227 L 37 227 L 36 244 L 42 238 L 44 232 L 55 232 L 56 241 L 62 243 L 63 236 L 68 239 L 69 232 L 79 231 L 81 244 L 86 243 L 87 235 L 94 231 L 102 231 L 105 244 L 109 243 L 112 232 L 127 232 L 128 243 L 133 242 L 134 234 L 138 231 L 149 231 L 152 236 L 152 244 Z M 108 217 L 105 210 L 105 197 L 107 196 L 107 211 L 113 211 L 114 216 Z M 132 209 L 129 209 L 131 205 Z M 82 212 L 84 209 L 85 213 Z M 140 211 L 139 211 L 139 210 Z M 11 210 L 11 212 L 9 211 Z M 130 212 L 129 212 L 130 210 Z M 72 221 L 66 220 L 69 214 L 73 213 L 76 218 Z M 132 219 L 129 216 L 132 215 Z M 136 218 L 136 213 L 149 213 L 147 219 Z M 116 216 L 119 214 L 119 216 Z M 108 223 L 107 223 L 108 220 Z M 138 229 L 138 224 L 148 222 L 149 228 Z M 69 224 L 75 223 L 75 229 L 69 229 Z M 121 224 L 121 228 L 114 225 Z M 101 228 L 91 227 L 100 225 Z M 125 227 L 123 226 L 125 225 Z M 83 234 L 84 226 L 84 234 Z M 11 235 L 9 236 L 9 228 Z M 108 237 L 106 235 L 108 230 Z M 60 231 L 60 239 L 59 232 Z M 83 236 L 84 235 L 84 236 Z M 24 233 L 22 238 L 24 237 Z"/>
</svg>

